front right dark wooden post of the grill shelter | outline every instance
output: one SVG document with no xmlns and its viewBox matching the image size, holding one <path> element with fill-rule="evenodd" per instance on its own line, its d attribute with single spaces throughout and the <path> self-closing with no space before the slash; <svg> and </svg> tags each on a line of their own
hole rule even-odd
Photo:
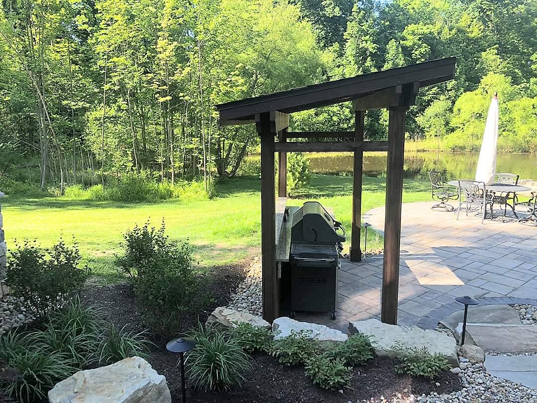
<svg viewBox="0 0 537 403">
<path fill-rule="evenodd" d="M 397 324 L 406 110 L 406 106 L 389 108 L 381 320 L 390 325 Z"/>
</svg>

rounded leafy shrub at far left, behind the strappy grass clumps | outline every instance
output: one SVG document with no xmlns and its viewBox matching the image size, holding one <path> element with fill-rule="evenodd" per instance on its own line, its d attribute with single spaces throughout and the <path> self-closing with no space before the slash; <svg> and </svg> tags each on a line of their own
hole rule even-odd
<svg viewBox="0 0 537 403">
<path fill-rule="evenodd" d="M 78 295 L 90 269 L 79 267 L 81 255 L 77 244 L 69 248 L 62 239 L 41 253 L 35 242 L 25 240 L 11 253 L 6 284 L 15 297 L 23 298 L 30 311 L 45 318 Z"/>
</svg>

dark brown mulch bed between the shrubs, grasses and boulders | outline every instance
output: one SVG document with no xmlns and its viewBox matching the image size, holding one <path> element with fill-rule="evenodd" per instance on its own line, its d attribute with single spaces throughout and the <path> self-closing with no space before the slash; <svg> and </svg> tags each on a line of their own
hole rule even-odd
<svg viewBox="0 0 537 403">
<path fill-rule="evenodd" d="M 198 322 L 204 323 L 207 316 L 216 306 L 226 305 L 230 294 L 244 278 L 244 270 L 249 262 L 215 268 L 207 276 L 206 291 L 214 296 L 211 306 L 194 312 L 185 319 L 184 329 L 197 327 Z M 129 330 L 140 332 L 144 327 L 142 315 L 136 308 L 135 296 L 128 284 L 98 287 L 83 293 L 85 304 L 102 308 L 107 321 L 116 326 L 127 326 Z M 153 335 L 155 347 L 151 348 L 148 361 L 153 368 L 166 377 L 172 394 L 173 402 L 181 401 L 180 371 L 177 368 L 178 356 L 166 351 L 164 337 Z M 195 391 L 187 389 L 188 402 L 347 402 L 362 399 L 380 398 L 387 400 L 401 393 L 403 395 L 420 395 L 436 391 L 450 393 L 461 387 L 459 378 L 451 372 L 442 373 L 440 386 L 427 379 L 416 379 L 410 376 L 396 375 L 393 368 L 394 359 L 375 358 L 367 365 L 354 370 L 351 387 L 339 391 L 324 391 L 311 383 L 304 375 L 303 367 L 280 365 L 274 358 L 266 355 L 255 355 L 253 371 L 248 376 L 248 382 L 240 388 L 225 393 Z"/>
</svg>

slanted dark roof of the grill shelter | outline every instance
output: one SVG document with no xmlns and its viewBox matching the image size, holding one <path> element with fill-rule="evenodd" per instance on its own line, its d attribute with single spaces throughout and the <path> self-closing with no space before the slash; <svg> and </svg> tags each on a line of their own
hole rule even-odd
<svg viewBox="0 0 537 403">
<path fill-rule="evenodd" d="M 455 73 L 455 57 L 378 71 L 342 80 L 329 81 L 269 95 L 246 98 L 216 105 L 220 124 L 237 124 L 253 120 L 263 112 L 293 113 L 320 106 L 357 99 L 395 85 L 419 83 L 420 87 L 451 80 Z"/>
</svg>

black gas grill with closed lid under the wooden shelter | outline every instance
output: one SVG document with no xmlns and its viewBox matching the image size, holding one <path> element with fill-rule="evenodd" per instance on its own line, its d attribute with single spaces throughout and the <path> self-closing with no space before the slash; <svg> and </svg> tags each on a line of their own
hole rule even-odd
<svg viewBox="0 0 537 403">
<path fill-rule="evenodd" d="M 317 202 L 293 214 L 291 229 L 291 316 L 297 311 L 330 312 L 336 319 L 337 271 L 345 229 Z M 343 235 L 336 231 L 341 230 Z"/>
</svg>

